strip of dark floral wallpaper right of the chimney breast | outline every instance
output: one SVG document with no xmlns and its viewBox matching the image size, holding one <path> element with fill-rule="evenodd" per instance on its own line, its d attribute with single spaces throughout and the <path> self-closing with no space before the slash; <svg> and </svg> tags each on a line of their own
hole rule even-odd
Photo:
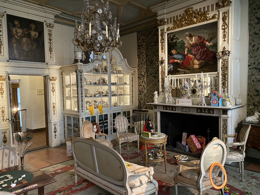
<svg viewBox="0 0 260 195">
<path fill-rule="evenodd" d="M 249 46 L 248 46 L 248 107 L 260 108 L 260 2 L 249 0 Z"/>
</svg>

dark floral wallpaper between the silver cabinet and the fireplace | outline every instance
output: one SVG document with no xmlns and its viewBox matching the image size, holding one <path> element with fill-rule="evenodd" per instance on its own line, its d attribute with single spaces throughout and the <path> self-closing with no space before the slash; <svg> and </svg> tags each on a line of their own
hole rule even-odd
<svg viewBox="0 0 260 195">
<path fill-rule="evenodd" d="M 159 33 L 153 27 L 137 32 L 138 56 L 138 107 L 153 109 L 148 102 L 153 102 L 154 91 L 159 92 Z"/>
</svg>

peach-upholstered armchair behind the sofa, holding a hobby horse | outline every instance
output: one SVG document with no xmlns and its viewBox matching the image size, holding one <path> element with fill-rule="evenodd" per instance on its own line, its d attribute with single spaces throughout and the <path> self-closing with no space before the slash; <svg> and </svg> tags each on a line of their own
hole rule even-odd
<svg viewBox="0 0 260 195">
<path fill-rule="evenodd" d="M 101 144 L 104 144 L 108 147 L 111 147 L 113 148 L 113 144 L 111 143 L 110 140 L 107 140 L 107 139 L 101 139 L 99 138 L 99 136 L 106 136 L 106 137 L 109 137 L 109 135 L 105 134 L 105 133 L 95 133 L 93 131 L 93 125 L 90 121 L 86 120 L 82 127 L 81 127 L 81 136 L 82 138 L 90 138 L 92 137 L 93 139 L 95 139 L 95 136 L 97 135 L 98 136 L 98 139 L 96 139 L 96 141 L 100 142 Z"/>
</svg>

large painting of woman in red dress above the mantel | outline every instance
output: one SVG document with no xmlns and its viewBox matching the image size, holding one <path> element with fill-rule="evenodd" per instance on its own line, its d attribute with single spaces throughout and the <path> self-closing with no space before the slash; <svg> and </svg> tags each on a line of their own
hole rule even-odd
<svg viewBox="0 0 260 195">
<path fill-rule="evenodd" d="M 168 75 L 217 72 L 217 21 L 183 30 L 177 29 L 172 33 L 168 33 L 167 41 Z M 203 65 L 192 69 L 191 66 L 180 67 L 178 63 L 173 63 L 173 49 L 182 52 L 186 56 L 194 56 L 194 59 L 202 61 Z"/>
</svg>

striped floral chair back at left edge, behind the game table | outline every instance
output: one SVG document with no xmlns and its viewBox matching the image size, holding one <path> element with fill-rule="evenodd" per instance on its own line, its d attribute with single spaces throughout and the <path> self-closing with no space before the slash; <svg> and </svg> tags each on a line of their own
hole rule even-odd
<svg viewBox="0 0 260 195">
<path fill-rule="evenodd" d="M 18 165 L 18 154 L 12 147 L 3 145 L 0 147 L 0 169 Z"/>
</svg>

